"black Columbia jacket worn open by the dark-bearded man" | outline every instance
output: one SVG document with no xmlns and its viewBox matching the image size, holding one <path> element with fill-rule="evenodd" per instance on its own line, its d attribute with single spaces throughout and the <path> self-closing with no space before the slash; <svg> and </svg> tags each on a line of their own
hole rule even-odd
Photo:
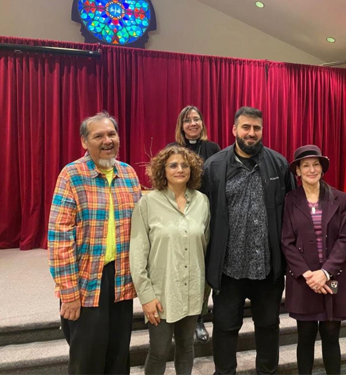
<svg viewBox="0 0 346 375">
<path fill-rule="evenodd" d="M 289 172 L 287 160 L 281 154 L 263 147 L 257 158 L 265 190 L 271 267 L 276 281 L 285 271 L 281 252 L 283 204 L 286 193 L 294 189 L 295 181 Z M 228 238 L 226 181 L 237 174 L 239 168 L 240 163 L 235 160 L 234 144 L 214 154 L 204 163 L 201 191 L 209 198 L 211 214 L 210 242 L 205 258 L 206 278 L 216 293 L 220 291 Z"/>
</svg>

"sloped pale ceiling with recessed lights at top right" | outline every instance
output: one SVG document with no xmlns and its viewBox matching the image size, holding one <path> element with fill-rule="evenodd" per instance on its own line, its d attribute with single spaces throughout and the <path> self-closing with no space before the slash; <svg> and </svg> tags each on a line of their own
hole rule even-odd
<svg viewBox="0 0 346 375">
<path fill-rule="evenodd" d="M 199 1 L 325 62 L 346 60 L 346 0 Z"/>
</svg>

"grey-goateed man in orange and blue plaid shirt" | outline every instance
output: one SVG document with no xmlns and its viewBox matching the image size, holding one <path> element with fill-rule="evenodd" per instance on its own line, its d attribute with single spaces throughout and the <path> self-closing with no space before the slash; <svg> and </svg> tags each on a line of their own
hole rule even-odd
<svg viewBox="0 0 346 375">
<path fill-rule="evenodd" d="M 133 168 L 115 158 L 108 113 L 80 129 L 87 152 L 60 172 L 48 228 L 49 264 L 70 345 L 69 374 L 129 374 L 133 298 L 131 214 L 141 197 Z"/>
</svg>

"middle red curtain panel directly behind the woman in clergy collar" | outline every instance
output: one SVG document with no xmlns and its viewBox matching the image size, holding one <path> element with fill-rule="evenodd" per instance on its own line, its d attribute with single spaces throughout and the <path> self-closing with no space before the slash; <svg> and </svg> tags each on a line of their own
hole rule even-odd
<svg viewBox="0 0 346 375">
<path fill-rule="evenodd" d="M 237 108 L 264 107 L 265 62 L 106 47 L 102 86 L 103 108 L 119 120 L 120 160 L 149 186 L 147 154 L 174 141 L 177 116 L 186 105 L 201 109 L 211 140 L 221 147 L 234 141 Z"/>
</svg>

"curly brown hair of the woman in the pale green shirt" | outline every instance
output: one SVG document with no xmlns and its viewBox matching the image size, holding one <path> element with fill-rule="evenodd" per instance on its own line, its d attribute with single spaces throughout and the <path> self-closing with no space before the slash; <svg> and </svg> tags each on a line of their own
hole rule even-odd
<svg viewBox="0 0 346 375">
<path fill-rule="evenodd" d="M 174 154 L 183 155 L 184 159 L 190 165 L 190 179 L 187 181 L 189 189 L 198 189 L 201 186 L 203 174 L 203 159 L 196 153 L 181 146 L 170 146 L 163 148 L 147 165 L 145 173 L 150 178 L 153 189 L 163 190 L 167 187 L 165 164 L 167 159 Z"/>
</svg>

